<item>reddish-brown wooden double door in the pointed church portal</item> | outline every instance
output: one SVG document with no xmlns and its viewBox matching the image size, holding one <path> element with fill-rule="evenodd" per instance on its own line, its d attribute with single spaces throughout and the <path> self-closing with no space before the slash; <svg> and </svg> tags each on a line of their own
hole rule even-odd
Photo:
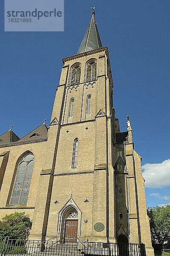
<svg viewBox="0 0 170 256">
<path fill-rule="evenodd" d="M 65 241 L 77 242 L 78 220 L 65 220 Z"/>
</svg>

